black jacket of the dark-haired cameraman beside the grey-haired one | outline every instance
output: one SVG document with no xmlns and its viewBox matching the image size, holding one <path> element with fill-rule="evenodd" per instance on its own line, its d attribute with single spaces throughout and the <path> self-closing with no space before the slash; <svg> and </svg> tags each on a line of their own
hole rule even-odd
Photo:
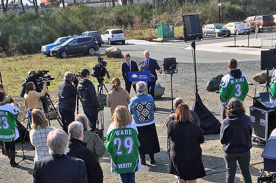
<svg viewBox="0 0 276 183">
<path fill-rule="evenodd" d="M 78 84 L 78 97 L 83 110 L 100 108 L 94 84 L 90 80 L 81 79 Z"/>
</svg>

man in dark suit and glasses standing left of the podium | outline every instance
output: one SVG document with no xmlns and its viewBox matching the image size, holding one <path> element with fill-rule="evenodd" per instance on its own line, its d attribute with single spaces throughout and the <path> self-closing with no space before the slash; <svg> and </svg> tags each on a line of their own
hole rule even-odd
<svg viewBox="0 0 276 183">
<path fill-rule="evenodd" d="M 132 82 L 128 81 L 128 72 L 137 72 L 139 71 L 137 63 L 135 61 L 130 60 L 130 56 L 128 53 L 124 54 L 125 62 L 122 63 L 122 76 L 123 80 L 125 81 L 125 90 L 130 93 Z M 136 86 L 132 85 L 133 89 L 136 93 Z"/>
</svg>

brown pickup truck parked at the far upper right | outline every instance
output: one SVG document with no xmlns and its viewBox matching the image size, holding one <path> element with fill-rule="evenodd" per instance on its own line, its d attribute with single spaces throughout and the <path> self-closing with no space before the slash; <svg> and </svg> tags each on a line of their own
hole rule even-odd
<svg viewBox="0 0 276 183">
<path fill-rule="evenodd" d="M 244 21 L 244 23 L 250 23 L 250 28 L 252 31 L 260 32 L 264 27 L 274 26 L 274 17 L 272 15 L 258 15 L 258 16 L 249 16 Z M 255 26 L 257 30 L 255 30 Z"/>
</svg>

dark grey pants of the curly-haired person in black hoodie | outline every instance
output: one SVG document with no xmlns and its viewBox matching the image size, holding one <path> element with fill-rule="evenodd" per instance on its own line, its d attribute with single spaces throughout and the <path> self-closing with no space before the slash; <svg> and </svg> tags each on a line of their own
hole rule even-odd
<svg viewBox="0 0 276 183">
<path fill-rule="evenodd" d="M 249 172 L 250 151 L 242 153 L 226 153 L 224 152 L 224 160 L 226 163 L 226 183 L 234 183 L 236 175 L 236 167 L 241 171 L 244 183 L 252 183 Z"/>
</svg>

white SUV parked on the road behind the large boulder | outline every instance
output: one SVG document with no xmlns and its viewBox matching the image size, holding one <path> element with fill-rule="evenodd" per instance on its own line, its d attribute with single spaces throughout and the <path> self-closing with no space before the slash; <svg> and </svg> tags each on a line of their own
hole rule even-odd
<svg viewBox="0 0 276 183">
<path fill-rule="evenodd" d="M 125 44 L 125 33 L 122 29 L 108 29 L 104 31 L 101 35 L 103 42 L 107 42 L 109 45 L 112 45 L 116 42 L 121 42 Z"/>
</svg>

